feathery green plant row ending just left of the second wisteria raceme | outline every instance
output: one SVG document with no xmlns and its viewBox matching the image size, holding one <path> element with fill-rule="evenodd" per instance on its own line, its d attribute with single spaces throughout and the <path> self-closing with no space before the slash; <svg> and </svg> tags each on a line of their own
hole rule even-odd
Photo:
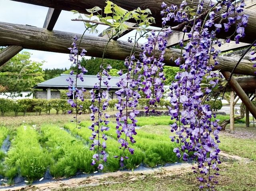
<svg viewBox="0 0 256 191">
<path fill-rule="evenodd" d="M 50 173 L 54 177 L 70 177 L 78 171 L 90 173 L 95 170 L 91 166 L 93 153 L 80 140 L 58 126 L 44 125 L 41 131 L 41 141 L 52 161 Z"/>
</svg>

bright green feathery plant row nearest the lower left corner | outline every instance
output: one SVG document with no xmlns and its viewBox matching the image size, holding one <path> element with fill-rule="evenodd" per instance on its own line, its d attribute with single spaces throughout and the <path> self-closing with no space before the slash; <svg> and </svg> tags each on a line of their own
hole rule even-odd
<svg viewBox="0 0 256 191">
<path fill-rule="evenodd" d="M 0 174 L 10 180 L 17 175 L 21 175 L 27 181 L 43 177 L 50 165 L 50 156 L 48 151 L 41 147 L 39 138 L 38 132 L 30 126 L 17 128 Z"/>
</svg>

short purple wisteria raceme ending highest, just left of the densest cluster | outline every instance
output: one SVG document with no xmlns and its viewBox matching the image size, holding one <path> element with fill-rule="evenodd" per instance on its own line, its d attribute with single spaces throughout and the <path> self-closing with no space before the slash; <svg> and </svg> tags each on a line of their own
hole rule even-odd
<svg viewBox="0 0 256 191">
<path fill-rule="evenodd" d="M 156 102 L 160 102 L 160 98 L 164 93 L 164 53 L 167 45 L 166 37 L 172 33 L 172 30 L 167 28 L 164 32 L 154 32 L 147 38 L 147 42 L 142 46 L 143 52 L 140 53 L 140 61 L 143 63 L 143 81 L 138 90 L 143 91 L 145 97 L 150 99 L 148 106 L 145 107 L 146 113 L 150 110 L 156 112 Z M 158 49 L 161 53 L 156 55 Z"/>
</svg>

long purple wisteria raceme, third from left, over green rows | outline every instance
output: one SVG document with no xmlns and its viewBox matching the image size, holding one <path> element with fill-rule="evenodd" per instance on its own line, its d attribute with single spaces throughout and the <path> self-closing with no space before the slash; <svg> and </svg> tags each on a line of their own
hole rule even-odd
<svg viewBox="0 0 256 191">
<path fill-rule="evenodd" d="M 118 99 L 118 103 L 115 104 L 118 110 L 116 113 L 116 134 L 118 143 L 121 144 L 120 149 L 123 152 L 121 156 L 114 156 L 114 158 L 120 160 L 121 166 L 124 166 L 124 160 L 128 159 L 125 150 L 128 150 L 130 154 L 134 154 L 134 149 L 130 145 L 136 142 L 134 135 L 137 134 L 135 130 L 137 120 L 135 118 L 139 113 L 136 108 L 138 99 L 141 97 L 137 89 L 142 78 L 140 74 L 142 66 L 134 54 L 126 58 L 124 65 L 127 68 L 127 73 L 123 75 L 123 71 L 118 72 L 120 81 L 117 85 L 121 89 L 115 92 Z M 128 112 L 128 108 L 131 109 L 130 112 Z"/>
</svg>

